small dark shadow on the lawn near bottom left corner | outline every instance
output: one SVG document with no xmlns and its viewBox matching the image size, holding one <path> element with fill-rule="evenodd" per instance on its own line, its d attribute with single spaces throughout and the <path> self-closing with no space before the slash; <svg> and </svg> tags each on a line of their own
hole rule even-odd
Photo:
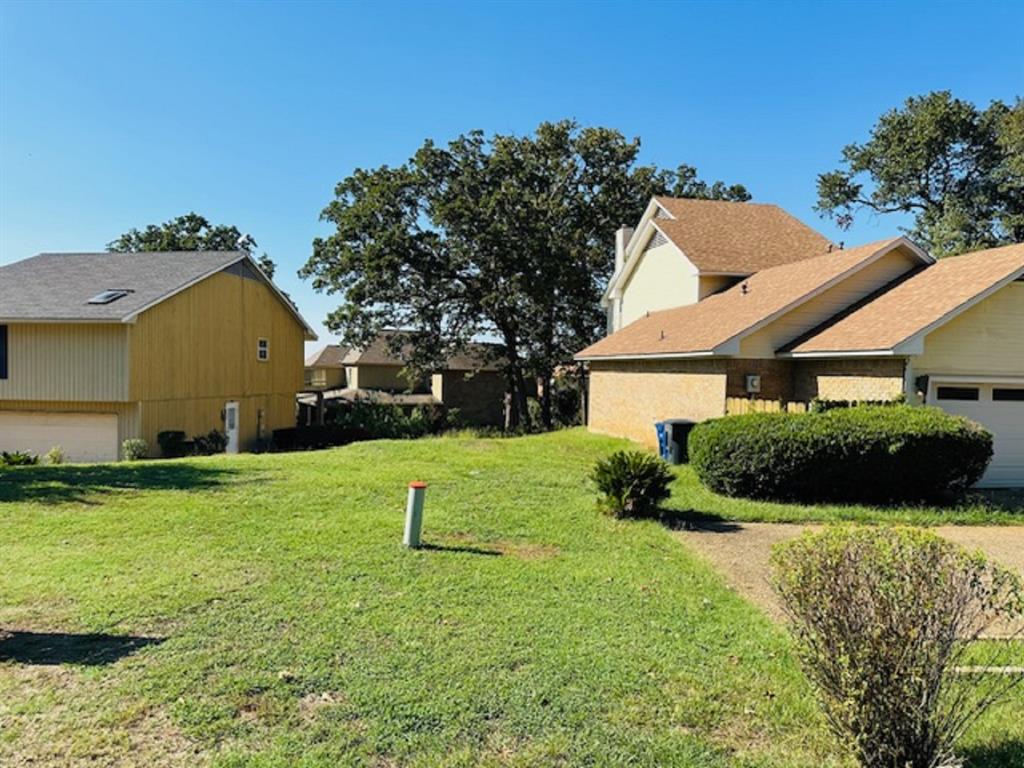
<svg viewBox="0 0 1024 768">
<path fill-rule="evenodd" d="M 66 632 L 0 631 L 0 662 L 28 665 L 114 664 L 164 638 L 130 635 L 75 635 Z"/>
</svg>

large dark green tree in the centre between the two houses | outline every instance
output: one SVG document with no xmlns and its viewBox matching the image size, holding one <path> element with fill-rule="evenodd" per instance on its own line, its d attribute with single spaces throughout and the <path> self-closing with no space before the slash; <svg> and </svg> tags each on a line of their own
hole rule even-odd
<svg viewBox="0 0 1024 768">
<path fill-rule="evenodd" d="M 402 165 L 358 169 L 336 186 L 322 213 L 335 231 L 313 241 L 300 274 L 341 297 L 327 325 L 346 343 L 398 329 L 392 349 L 415 340 L 414 369 L 474 338 L 499 339 L 515 418 L 528 423 L 526 378 L 550 381 L 603 329 L 614 230 L 637 221 L 652 195 L 750 199 L 690 166 L 639 165 L 639 139 L 572 121 L 528 136 L 428 140 Z"/>
</svg>

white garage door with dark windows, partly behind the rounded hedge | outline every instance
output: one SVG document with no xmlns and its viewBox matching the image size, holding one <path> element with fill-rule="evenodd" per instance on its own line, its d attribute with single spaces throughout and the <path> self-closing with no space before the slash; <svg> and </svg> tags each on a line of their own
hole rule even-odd
<svg viewBox="0 0 1024 768">
<path fill-rule="evenodd" d="M 985 426 L 994 435 L 992 463 L 979 487 L 1024 487 L 1024 380 L 935 381 L 929 402 Z"/>
</svg>

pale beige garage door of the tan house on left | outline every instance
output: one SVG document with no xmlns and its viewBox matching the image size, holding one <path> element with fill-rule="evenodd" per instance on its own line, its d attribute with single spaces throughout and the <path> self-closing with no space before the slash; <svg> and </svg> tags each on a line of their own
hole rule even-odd
<svg viewBox="0 0 1024 768">
<path fill-rule="evenodd" d="M 73 462 L 117 461 L 117 414 L 0 411 L 0 451 L 42 456 L 54 445 Z"/>
</svg>

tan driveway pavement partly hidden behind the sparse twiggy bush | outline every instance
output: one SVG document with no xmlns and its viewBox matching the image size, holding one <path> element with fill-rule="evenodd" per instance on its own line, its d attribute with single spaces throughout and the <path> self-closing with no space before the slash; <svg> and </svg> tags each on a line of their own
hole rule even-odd
<svg viewBox="0 0 1024 768">
<path fill-rule="evenodd" d="M 693 524 L 686 530 L 677 530 L 674 536 L 707 558 L 736 592 L 764 609 L 774 621 L 782 622 L 785 614 L 769 582 L 771 549 L 804 530 L 820 527 L 709 521 Z M 1024 577 L 1024 528 L 949 525 L 934 530 L 962 547 L 981 550 L 989 558 Z M 1024 623 L 1014 627 L 996 627 L 989 637 L 1009 637 L 1022 629 Z"/>
</svg>

